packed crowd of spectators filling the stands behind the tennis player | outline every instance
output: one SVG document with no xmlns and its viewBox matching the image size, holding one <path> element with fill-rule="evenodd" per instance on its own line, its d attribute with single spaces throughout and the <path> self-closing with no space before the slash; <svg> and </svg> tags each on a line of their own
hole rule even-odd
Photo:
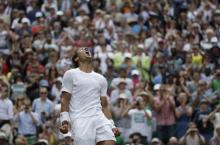
<svg viewBox="0 0 220 145">
<path fill-rule="evenodd" d="M 87 47 L 117 145 L 219 145 L 219 41 L 219 0 L 0 0 L 0 144 L 74 144 L 62 76 Z"/>
</svg>

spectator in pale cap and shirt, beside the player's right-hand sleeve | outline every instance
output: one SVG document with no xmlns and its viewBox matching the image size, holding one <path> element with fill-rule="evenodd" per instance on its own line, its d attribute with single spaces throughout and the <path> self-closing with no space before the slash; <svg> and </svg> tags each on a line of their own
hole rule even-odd
<svg viewBox="0 0 220 145">
<path fill-rule="evenodd" d="M 120 79 L 117 85 L 117 88 L 112 90 L 110 100 L 111 104 L 114 105 L 117 102 L 118 97 L 120 94 L 126 94 L 129 103 L 132 102 L 132 94 L 131 91 L 126 88 L 127 82 L 125 79 Z"/>
</svg>

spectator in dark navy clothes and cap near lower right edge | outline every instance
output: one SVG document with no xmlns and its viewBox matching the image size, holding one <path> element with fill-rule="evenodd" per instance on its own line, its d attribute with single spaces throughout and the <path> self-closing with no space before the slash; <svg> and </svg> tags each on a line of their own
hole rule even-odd
<svg viewBox="0 0 220 145">
<path fill-rule="evenodd" d="M 213 135 L 213 125 L 208 120 L 210 114 L 210 103 L 207 99 L 202 99 L 200 102 L 199 110 L 195 113 L 194 122 L 197 124 L 197 128 L 205 140 L 210 140 Z"/>
</svg>

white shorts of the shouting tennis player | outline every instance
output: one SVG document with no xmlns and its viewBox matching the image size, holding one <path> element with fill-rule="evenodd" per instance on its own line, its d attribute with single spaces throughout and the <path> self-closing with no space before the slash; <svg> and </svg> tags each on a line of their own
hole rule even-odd
<svg viewBox="0 0 220 145">
<path fill-rule="evenodd" d="M 101 141 L 116 140 L 111 124 L 104 115 L 74 119 L 71 132 L 74 145 L 96 145 Z"/>
</svg>

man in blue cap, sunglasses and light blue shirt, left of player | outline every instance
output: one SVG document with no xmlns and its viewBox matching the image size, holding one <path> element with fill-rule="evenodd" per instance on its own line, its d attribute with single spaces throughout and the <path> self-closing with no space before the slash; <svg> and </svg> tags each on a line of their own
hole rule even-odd
<svg viewBox="0 0 220 145">
<path fill-rule="evenodd" d="M 33 101 L 32 109 L 40 116 L 42 122 L 45 122 L 51 117 L 54 111 L 54 104 L 48 99 L 48 90 L 46 87 L 40 87 L 39 98 Z"/>
</svg>

